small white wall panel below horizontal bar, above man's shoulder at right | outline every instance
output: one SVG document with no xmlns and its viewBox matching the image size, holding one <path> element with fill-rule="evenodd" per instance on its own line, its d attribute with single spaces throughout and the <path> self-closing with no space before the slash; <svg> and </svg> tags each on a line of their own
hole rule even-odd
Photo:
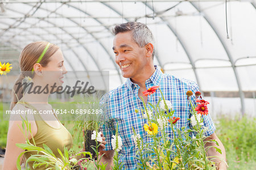
<svg viewBox="0 0 256 170">
<path fill-rule="evenodd" d="M 233 69 L 196 69 L 203 91 L 238 91 Z"/>
</svg>

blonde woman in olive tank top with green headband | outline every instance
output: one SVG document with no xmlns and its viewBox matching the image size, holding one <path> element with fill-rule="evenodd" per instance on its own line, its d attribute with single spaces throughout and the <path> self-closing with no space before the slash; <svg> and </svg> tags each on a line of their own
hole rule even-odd
<svg viewBox="0 0 256 170">
<path fill-rule="evenodd" d="M 19 66 L 22 73 L 14 85 L 10 110 L 28 111 L 28 109 L 34 108 L 33 110 L 36 110 L 37 113 L 53 111 L 52 106 L 48 104 L 49 91 L 40 94 L 34 92 L 23 94 L 23 89 L 20 88 L 19 83 L 22 83 L 25 76 L 29 76 L 32 78 L 32 83 L 34 83 L 30 91 L 36 91 L 36 86 L 42 87 L 41 90 L 46 86 L 51 87 L 55 83 L 56 86 L 61 86 L 67 70 L 64 67 L 64 57 L 59 47 L 49 42 L 32 42 L 20 54 Z M 56 114 L 28 114 L 27 119 L 31 124 L 31 132 L 27 134 L 31 143 L 34 143 L 32 141 L 33 137 L 36 146 L 43 147 L 43 143 L 46 144 L 51 148 L 53 154 L 60 159 L 61 156 L 57 148 L 61 152 L 64 152 L 64 146 L 68 150 L 71 148 L 72 135 L 60 123 Z M 18 155 L 24 151 L 15 145 L 26 141 L 20 127 L 22 127 L 20 114 L 11 115 L 3 169 L 16 169 Z M 104 137 L 103 139 L 105 140 Z M 105 144 L 105 141 L 101 144 L 101 150 L 105 148 L 103 144 Z M 27 152 L 24 157 L 27 159 L 31 154 L 34 153 Z M 28 164 L 33 169 L 33 162 Z M 36 169 L 46 169 L 46 167 Z"/>
</svg>

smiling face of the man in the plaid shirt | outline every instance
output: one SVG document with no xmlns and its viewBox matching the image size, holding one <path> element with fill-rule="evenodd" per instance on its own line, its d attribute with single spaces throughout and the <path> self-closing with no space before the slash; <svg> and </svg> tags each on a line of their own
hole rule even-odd
<svg viewBox="0 0 256 170">
<path fill-rule="evenodd" d="M 132 32 L 121 32 L 115 35 L 113 50 L 115 62 L 124 78 L 135 78 L 143 74 L 146 65 L 146 48 L 140 47 L 133 40 Z"/>
</svg>

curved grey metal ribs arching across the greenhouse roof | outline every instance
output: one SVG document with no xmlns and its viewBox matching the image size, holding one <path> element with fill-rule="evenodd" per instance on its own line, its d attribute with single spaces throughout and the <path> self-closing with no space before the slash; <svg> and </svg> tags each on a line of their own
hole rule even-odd
<svg viewBox="0 0 256 170">
<path fill-rule="evenodd" d="M 98 2 L 100 2 L 100 1 L 98 1 Z M 92 15 L 88 14 L 87 12 L 84 12 L 84 11 L 80 10 L 79 8 L 77 8 L 77 7 L 75 7 L 75 6 L 69 5 L 67 2 L 57 2 L 57 3 L 62 3 L 62 4 L 65 4 L 65 5 L 69 6 L 69 7 L 73 7 L 73 8 L 75 8 L 76 10 L 79 10 L 80 12 L 83 12 L 84 14 L 86 14 L 86 15 L 92 17 Z M 113 10 L 113 11 L 114 11 L 116 14 L 118 14 L 119 16 L 122 16 L 122 14 L 121 14 L 120 12 L 118 12 L 117 10 L 115 10 L 112 6 L 106 4 L 107 2 L 100 2 L 100 3 L 102 3 L 102 4 L 105 5 L 106 7 L 110 8 L 111 10 Z M 141 3 L 144 3 L 144 4 L 145 4 L 145 2 L 142 2 L 142 1 L 141 1 Z M 203 11 L 200 10 L 200 8 L 195 4 L 195 2 L 190 2 L 190 1 L 189 1 L 189 3 L 191 3 L 191 5 L 192 5 L 194 8 L 196 8 L 197 11 L 203 12 Z M 251 3 L 251 5 L 252 5 L 254 8 L 256 8 L 255 2 L 250 2 L 250 3 Z M 28 5 L 29 3 L 23 3 L 23 4 Z M 151 7 L 148 3 L 145 4 L 145 5 L 146 5 L 148 8 L 150 8 L 150 9 L 152 10 L 152 7 Z M 29 6 L 32 6 L 32 5 L 29 5 Z M 46 11 L 50 11 L 50 10 L 47 10 L 47 9 L 44 9 L 44 8 L 39 8 L 39 9 L 41 9 L 41 10 L 46 10 Z M 10 9 L 9 9 L 9 10 L 10 10 Z M 16 12 L 16 11 L 15 11 L 15 12 Z M 50 12 L 52 12 L 52 11 L 50 11 Z M 23 13 L 20 12 L 20 14 L 23 14 Z M 56 13 L 56 14 L 57 14 L 57 13 Z M 204 13 L 204 14 L 205 14 L 205 13 Z M 24 14 L 23 14 L 23 15 L 24 15 Z M 26 15 L 26 14 L 25 14 L 25 15 Z M 63 15 L 61 15 L 61 14 L 57 14 L 57 15 L 63 16 Z M 214 24 L 211 22 L 211 20 L 210 20 L 210 18 L 208 17 L 207 14 L 203 15 L 203 17 L 204 17 L 204 19 L 207 21 L 207 23 L 210 25 L 210 27 L 213 29 L 213 31 L 214 31 L 214 33 L 216 34 L 218 40 L 220 40 L 220 42 L 221 42 L 221 44 L 222 44 L 222 46 L 223 46 L 223 48 L 224 48 L 224 50 L 225 50 L 225 52 L 226 52 L 228 58 L 229 58 L 229 61 L 230 61 L 231 65 L 232 65 L 232 69 L 233 69 L 233 71 L 234 71 L 234 75 L 235 75 L 236 81 L 237 81 L 238 91 L 239 91 L 239 93 L 240 93 L 241 107 L 242 107 L 242 114 L 243 114 L 243 113 L 245 113 L 244 95 L 243 95 L 243 92 L 242 92 L 242 87 L 241 87 L 240 78 L 239 78 L 239 76 L 238 76 L 237 69 L 236 69 L 236 65 L 235 65 L 235 62 L 233 61 L 232 54 L 229 52 L 228 46 L 225 44 L 224 39 L 222 39 L 222 37 L 221 37 L 220 34 L 218 33 L 218 31 L 217 31 L 217 29 L 216 29 L 216 25 L 214 25 Z M 93 18 L 93 17 L 92 17 L 92 18 Z M 164 19 L 163 17 L 159 17 L 159 18 L 160 18 L 161 20 L 163 20 L 164 22 L 167 23 L 167 27 L 168 27 L 168 28 L 171 30 L 171 32 L 174 33 L 174 35 L 177 37 L 177 40 L 180 42 L 182 48 L 184 49 L 184 52 L 187 54 L 187 57 L 188 57 L 188 59 L 189 59 L 189 62 L 191 63 L 193 72 L 195 73 L 197 83 L 199 83 L 199 86 L 200 86 L 199 78 L 198 78 L 198 75 L 197 75 L 197 73 L 196 73 L 195 61 L 193 61 L 193 59 L 192 59 L 192 57 L 191 57 L 191 54 L 188 52 L 187 46 L 185 45 L 184 41 L 181 39 L 181 37 L 179 36 L 179 33 L 175 31 L 175 29 L 172 27 L 172 25 L 168 22 L 167 19 Z M 79 23 L 75 22 L 75 20 L 72 20 L 72 19 L 70 19 L 70 18 L 67 18 L 67 19 L 70 20 L 71 22 L 75 23 L 75 24 L 78 25 L 79 27 L 81 27 L 81 25 L 80 25 Z M 99 24 L 103 25 L 102 22 L 100 22 L 100 20 L 98 20 L 97 18 L 93 18 L 93 19 L 96 20 L 96 22 L 98 22 Z M 127 20 L 127 22 L 129 22 L 129 19 L 127 19 L 127 18 L 124 18 L 124 19 Z M 57 27 L 57 28 L 59 28 L 59 29 L 61 29 L 63 32 L 67 33 L 69 36 L 71 36 L 73 39 L 75 39 L 75 40 L 78 42 L 78 44 L 80 44 L 80 43 L 79 43 L 79 40 L 77 40 L 74 36 L 72 36 L 71 33 L 65 31 L 65 30 L 64 30 L 63 28 L 61 28 L 61 27 L 58 27 L 56 24 L 54 24 L 54 23 L 52 23 L 52 22 L 49 22 L 48 20 L 44 20 L 44 21 L 45 21 L 45 22 L 48 22 L 48 23 L 50 23 L 50 24 L 52 24 L 53 26 L 55 26 L 55 27 Z M 24 21 L 23 21 L 23 22 L 24 22 Z M 10 26 L 10 25 L 9 25 L 9 26 Z M 105 27 L 106 29 L 108 29 L 108 27 L 106 27 L 106 26 L 104 26 L 104 25 L 103 25 L 102 27 Z M 11 27 L 9 27 L 9 28 L 11 28 Z M 6 30 L 8 30 L 9 28 L 7 28 Z M 111 57 L 110 53 L 108 52 L 108 50 L 106 50 L 106 47 L 97 39 L 97 37 L 95 37 L 95 36 L 93 35 L 93 33 L 90 33 L 86 28 L 84 28 L 84 27 L 81 27 L 81 28 L 84 29 L 86 32 L 88 32 L 88 33 L 90 34 L 90 36 L 92 36 L 93 39 L 95 39 L 96 41 L 98 41 L 98 43 L 102 46 L 102 48 L 103 48 L 103 49 L 105 50 L 105 52 L 109 55 L 111 61 L 113 62 L 113 58 Z M 40 28 L 40 29 L 42 29 L 42 28 Z M 47 31 L 47 30 L 45 30 L 45 29 L 43 29 L 43 30 L 44 30 L 44 31 Z M 31 31 L 30 31 L 30 32 L 31 32 Z M 33 32 L 32 34 L 33 34 L 33 35 L 36 35 L 36 33 L 34 33 L 34 32 Z M 51 33 L 51 35 L 53 35 L 53 34 Z M 36 35 L 36 36 L 39 36 L 39 35 Z M 59 39 L 58 36 L 56 36 L 56 35 L 53 35 L 53 36 L 55 36 L 55 37 L 57 37 L 57 39 Z M 40 37 L 40 36 L 39 36 L 39 37 Z M 61 40 L 61 39 L 59 39 L 59 40 Z M 10 41 L 10 43 L 12 43 L 12 42 Z M 75 54 L 75 56 L 76 56 L 76 57 L 79 59 L 79 61 L 82 63 L 82 66 L 84 67 L 84 69 L 87 71 L 86 66 L 85 66 L 84 63 L 81 61 L 81 58 L 76 54 L 76 52 L 75 52 L 67 43 L 65 43 L 63 40 L 61 40 L 61 43 L 67 45 L 67 46 L 71 49 L 72 53 Z M 13 44 L 13 45 L 14 45 L 14 44 Z M 89 53 L 89 50 L 86 49 L 86 46 L 85 46 L 84 44 L 81 44 L 81 46 L 82 46 L 82 48 L 84 48 L 84 49 L 86 50 L 86 52 L 88 52 L 90 58 L 93 59 L 93 62 L 96 64 L 97 68 L 100 70 L 100 66 L 99 66 L 98 63 L 95 61 L 93 55 L 92 55 L 91 53 Z M 159 65 L 162 67 L 163 65 L 162 65 L 162 63 L 160 62 L 160 59 L 159 59 L 158 55 L 156 55 L 156 58 L 158 59 Z M 121 79 L 121 82 L 122 82 L 122 78 L 121 78 L 121 75 L 120 75 L 120 73 L 119 73 L 119 69 L 117 69 L 117 66 L 115 65 L 114 62 L 113 62 L 113 64 L 114 64 L 114 66 L 115 66 L 115 69 L 118 71 L 119 78 Z M 69 63 L 69 65 L 71 65 L 71 63 Z M 73 69 L 73 67 L 72 67 L 72 69 Z"/>
</svg>

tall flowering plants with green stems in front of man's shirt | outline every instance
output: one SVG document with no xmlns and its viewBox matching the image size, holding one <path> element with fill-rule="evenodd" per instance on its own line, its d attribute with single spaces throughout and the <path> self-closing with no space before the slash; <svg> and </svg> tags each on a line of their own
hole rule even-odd
<svg viewBox="0 0 256 170">
<path fill-rule="evenodd" d="M 162 94 L 162 91 L 160 92 Z M 136 136 L 134 142 L 137 143 L 136 155 L 138 155 L 136 158 L 141 162 L 137 165 L 137 169 L 216 169 L 215 163 L 208 159 L 205 151 L 214 146 L 204 148 L 206 143 L 204 142 L 204 133 L 207 129 L 202 126 L 203 118 L 201 118 L 201 114 L 197 114 L 195 111 L 196 106 L 192 105 L 190 101 L 192 117 L 198 116 L 193 121 L 195 122 L 193 128 L 182 127 L 180 129 L 176 126 L 176 121 L 179 121 L 180 118 L 174 117 L 175 111 L 171 109 L 170 103 L 164 99 L 163 94 L 158 103 L 148 103 L 149 108 L 143 101 L 143 118 L 146 118 L 148 124 L 144 124 L 147 137 L 138 137 L 134 130 L 134 136 Z M 155 114 L 148 112 L 153 112 L 153 110 Z M 173 138 L 170 138 L 166 128 L 171 128 Z M 196 135 L 195 138 L 191 137 L 192 133 Z M 215 140 L 210 142 L 218 145 Z M 221 152 L 219 148 L 216 149 Z M 151 163 L 145 163 L 144 158 L 149 158 Z"/>
</svg>

